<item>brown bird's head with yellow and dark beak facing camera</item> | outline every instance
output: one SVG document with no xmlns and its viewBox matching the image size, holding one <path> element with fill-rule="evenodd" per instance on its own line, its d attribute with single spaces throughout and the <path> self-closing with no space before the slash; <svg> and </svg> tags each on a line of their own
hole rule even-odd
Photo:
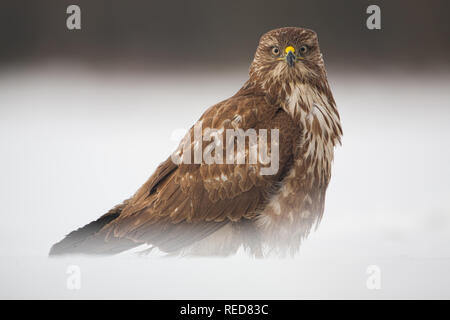
<svg viewBox="0 0 450 320">
<path fill-rule="evenodd" d="M 281 28 L 264 34 L 250 66 L 250 78 L 267 82 L 316 81 L 325 69 L 314 31 Z"/>
</svg>

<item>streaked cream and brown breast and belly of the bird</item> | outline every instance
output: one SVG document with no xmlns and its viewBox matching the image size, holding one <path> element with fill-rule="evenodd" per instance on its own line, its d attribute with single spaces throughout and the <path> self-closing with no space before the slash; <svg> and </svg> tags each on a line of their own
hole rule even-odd
<svg viewBox="0 0 450 320">
<path fill-rule="evenodd" d="M 327 85 L 326 92 L 304 83 L 280 87 L 278 103 L 300 127 L 301 139 L 294 164 L 261 212 L 258 225 L 268 243 L 277 240 L 292 249 L 300 243 L 297 238 L 303 238 L 320 221 L 334 146 L 340 143 L 342 129 Z"/>
</svg>

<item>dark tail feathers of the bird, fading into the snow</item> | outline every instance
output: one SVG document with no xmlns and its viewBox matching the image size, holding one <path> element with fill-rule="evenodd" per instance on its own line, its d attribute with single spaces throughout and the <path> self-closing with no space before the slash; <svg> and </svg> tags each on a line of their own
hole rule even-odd
<svg viewBox="0 0 450 320">
<path fill-rule="evenodd" d="M 116 219 L 122 212 L 126 202 L 116 206 L 114 209 L 99 219 L 69 233 L 63 240 L 54 244 L 50 249 L 50 256 L 65 254 L 91 254 L 110 255 L 116 254 L 139 245 L 128 239 L 111 239 L 106 241 L 97 233 L 107 224 Z"/>
</svg>

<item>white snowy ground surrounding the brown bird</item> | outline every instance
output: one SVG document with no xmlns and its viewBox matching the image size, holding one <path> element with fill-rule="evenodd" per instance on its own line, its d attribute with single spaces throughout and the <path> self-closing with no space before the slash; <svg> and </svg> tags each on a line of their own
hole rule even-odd
<svg viewBox="0 0 450 320">
<path fill-rule="evenodd" d="M 211 75 L 214 75 L 213 77 Z M 246 70 L 0 74 L 0 298 L 450 298 L 450 76 L 329 71 L 343 146 L 294 258 L 47 258 L 131 196 Z M 179 130 L 178 130 L 179 131 Z M 68 290 L 67 267 L 81 270 Z M 381 269 L 381 289 L 366 269 Z"/>
</svg>

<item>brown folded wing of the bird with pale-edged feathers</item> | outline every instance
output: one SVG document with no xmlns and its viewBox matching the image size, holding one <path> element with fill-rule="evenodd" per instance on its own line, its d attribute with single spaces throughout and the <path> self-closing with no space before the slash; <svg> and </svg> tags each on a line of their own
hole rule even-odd
<svg viewBox="0 0 450 320">
<path fill-rule="evenodd" d="M 227 164 L 225 151 L 222 164 L 175 164 L 169 157 L 127 201 L 120 216 L 102 229 L 106 238 L 127 238 L 173 251 L 229 222 L 251 219 L 264 207 L 293 163 L 300 134 L 291 117 L 264 96 L 236 95 L 209 108 L 200 123 L 203 135 L 208 128 L 222 132 L 267 129 L 269 155 L 274 147 L 270 130 L 278 129 L 279 169 L 275 174 L 262 175 L 261 168 L 270 165 L 259 160 L 256 164 L 249 162 L 249 143 L 245 143 L 247 156 L 242 164 Z M 189 131 L 190 137 L 194 137 L 194 130 L 195 126 Z M 209 143 L 199 146 L 192 140 L 185 137 L 177 149 L 180 158 L 190 156 L 191 162 L 196 148 L 204 154 L 210 147 Z"/>
</svg>

